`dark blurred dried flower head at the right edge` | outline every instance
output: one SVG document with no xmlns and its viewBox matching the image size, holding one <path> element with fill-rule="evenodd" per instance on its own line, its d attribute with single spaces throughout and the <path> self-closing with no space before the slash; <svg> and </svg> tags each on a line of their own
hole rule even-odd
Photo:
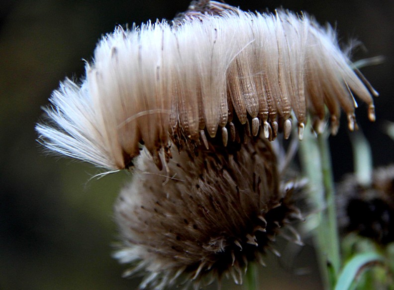
<svg viewBox="0 0 394 290">
<path fill-rule="evenodd" d="M 369 186 L 349 175 L 338 193 L 339 222 L 345 232 L 380 244 L 394 242 L 394 165 L 375 169 Z"/>
</svg>

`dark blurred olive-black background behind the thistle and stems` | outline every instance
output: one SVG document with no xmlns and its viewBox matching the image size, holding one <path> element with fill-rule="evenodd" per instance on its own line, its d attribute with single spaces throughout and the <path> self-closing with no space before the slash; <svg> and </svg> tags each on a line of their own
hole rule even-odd
<svg viewBox="0 0 394 290">
<path fill-rule="evenodd" d="M 283 6 L 307 11 L 320 23 L 336 26 L 341 41 L 356 38 L 363 43 L 355 60 L 385 56 L 385 63 L 362 69 L 381 94 L 375 100 L 377 122 L 367 121 L 363 104 L 357 117 L 373 146 L 375 164 L 394 161 L 394 142 L 383 130 L 385 121 L 394 122 L 393 0 L 228 2 L 244 10 Z M 117 236 L 112 205 L 130 176 L 120 172 L 89 181 L 98 169 L 43 154 L 34 125 L 42 114 L 40 106 L 48 103 L 59 81 L 83 75 L 82 59 L 91 59 L 103 33 L 116 24 L 171 19 L 188 4 L 186 0 L 0 2 L 1 290 L 137 288 L 138 279 L 122 279 L 125 267 L 110 257 Z M 336 180 L 352 170 L 345 124 L 331 138 Z M 291 262 L 290 268 L 289 263 L 279 265 L 269 255 L 261 289 L 320 288 L 311 246 Z"/>
</svg>

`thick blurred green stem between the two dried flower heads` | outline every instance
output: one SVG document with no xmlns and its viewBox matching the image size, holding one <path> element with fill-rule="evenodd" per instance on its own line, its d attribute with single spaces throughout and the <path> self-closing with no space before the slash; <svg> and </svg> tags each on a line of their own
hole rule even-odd
<svg viewBox="0 0 394 290">
<path fill-rule="evenodd" d="M 308 131 L 305 130 L 305 138 L 300 142 L 300 160 L 309 181 L 309 200 L 314 206 L 310 223 L 315 230 L 321 279 L 328 290 L 333 288 L 341 265 L 331 159 L 327 134 L 316 139 Z"/>
</svg>

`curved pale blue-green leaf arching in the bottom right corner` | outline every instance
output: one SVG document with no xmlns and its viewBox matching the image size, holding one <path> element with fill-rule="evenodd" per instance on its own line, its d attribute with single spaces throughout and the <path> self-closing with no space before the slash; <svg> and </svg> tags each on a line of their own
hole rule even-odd
<svg viewBox="0 0 394 290">
<path fill-rule="evenodd" d="M 335 290 L 349 290 L 357 276 L 366 270 L 365 266 L 383 261 L 384 257 L 376 252 L 357 254 L 345 264 L 345 267 L 339 273 Z"/>
</svg>

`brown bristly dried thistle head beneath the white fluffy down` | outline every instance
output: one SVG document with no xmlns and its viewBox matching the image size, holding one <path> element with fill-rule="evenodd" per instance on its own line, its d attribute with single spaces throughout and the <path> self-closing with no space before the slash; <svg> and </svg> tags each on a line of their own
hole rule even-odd
<svg viewBox="0 0 394 290">
<path fill-rule="evenodd" d="M 271 144 L 259 140 L 234 154 L 228 148 L 184 150 L 160 173 L 144 151 L 133 181 L 115 205 L 123 240 L 115 257 L 142 272 L 141 288 L 164 289 L 209 284 L 231 276 L 242 283 L 248 262 L 262 254 L 300 219 L 292 201 L 293 183 L 280 184 Z"/>
</svg>

